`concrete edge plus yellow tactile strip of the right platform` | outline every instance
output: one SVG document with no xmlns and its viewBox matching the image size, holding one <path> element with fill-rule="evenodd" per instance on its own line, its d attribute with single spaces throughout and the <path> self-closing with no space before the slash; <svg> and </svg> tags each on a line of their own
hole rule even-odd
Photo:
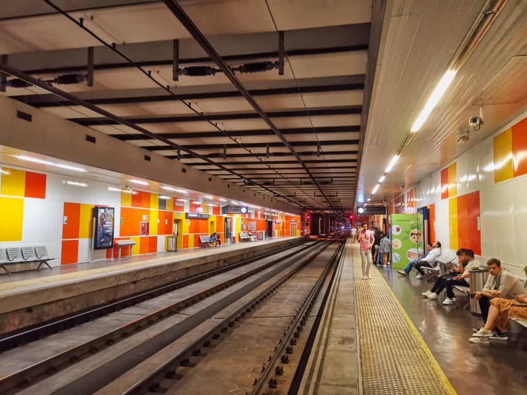
<svg viewBox="0 0 527 395">
<path fill-rule="evenodd" d="M 298 393 L 455 394 L 413 321 L 349 240 Z"/>
</svg>

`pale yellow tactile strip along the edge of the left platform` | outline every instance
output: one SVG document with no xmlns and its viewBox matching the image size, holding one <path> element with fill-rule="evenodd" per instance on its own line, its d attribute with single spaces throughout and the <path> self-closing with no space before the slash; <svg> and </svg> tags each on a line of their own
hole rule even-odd
<svg viewBox="0 0 527 395">
<path fill-rule="evenodd" d="M 295 237 L 285 237 L 285 238 L 278 238 L 273 239 L 273 241 L 285 241 L 288 239 L 295 239 Z M 196 249 L 193 251 L 185 251 L 179 254 L 171 254 L 167 256 L 157 256 L 156 258 L 152 258 L 149 260 L 138 260 L 136 262 L 130 262 L 123 263 L 120 265 L 111 265 L 104 268 L 97 268 L 97 269 L 90 269 L 90 270 L 81 270 L 79 272 L 73 272 L 73 273 L 63 273 L 63 274 L 56 274 L 56 275 L 50 275 L 45 277 L 36 277 L 32 279 L 27 280 L 20 280 L 20 281 L 11 281 L 6 283 L 0 283 L 0 295 L 5 293 L 10 293 L 13 290 L 16 291 L 23 291 L 27 288 L 42 288 L 42 287 L 48 287 L 48 286 L 55 286 L 60 285 L 64 283 L 72 283 L 75 281 L 82 281 L 87 278 L 97 278 L 99 276 L 108 275 L 110 273 L 119 273 L 119 272 L 127 272 L 127 271 L 133 271 L 138 268 L 146 268 L 150 265 L 162 265 L 164 263 L 169 262 L 178 262 L 178 261 L 184 261 L 189 258 L 197 258 L 199 256 L 206 256 L 210 255 L 211 253 L 221 253 L 221 252 L 228 252 L 232 250 L 239 250 L 243 248 L 249 248 L 251 246 L 255 245 L 261 245 L 263 243 L 271 243 L 272 241 L 264 241 L 259 242 L 257 244 L 250 244 L 247 243 L 237 243 L 234 245 L 229 245 L 226 248 L 218 249 L 218 250 L 210 250 L 210 249 Z M 42 286 L 42 287 L 40 287 Z"/>
</svg>

